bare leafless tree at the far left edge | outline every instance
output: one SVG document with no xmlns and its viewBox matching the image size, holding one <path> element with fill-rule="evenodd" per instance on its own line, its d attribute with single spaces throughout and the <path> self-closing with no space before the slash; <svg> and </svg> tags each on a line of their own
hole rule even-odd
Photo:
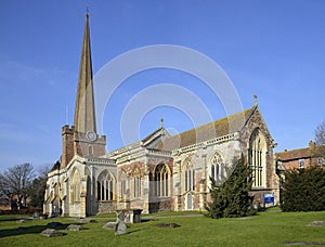
<svg viewBox="0 0 325 247">
<path fill-rule="evenodd" d="M 32 178 L 34 168 L 31 164 L 26 162 L 6 169 L 0 174 L 1 195 L 9 202 L 15 198 L 18 208 L 26 207 Z"/>
</svg>

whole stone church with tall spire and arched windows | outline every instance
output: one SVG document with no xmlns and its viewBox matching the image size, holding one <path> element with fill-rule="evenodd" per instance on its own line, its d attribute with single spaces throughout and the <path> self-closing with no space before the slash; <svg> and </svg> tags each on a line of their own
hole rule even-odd
<svg viewBox="0 0 325 247">
<path fill-rule="evenodd" d="M 62 128 L 61 162 L 48 174 L 44 213 L 70 217 L 141 209 L 205 210 L 210 177 L 222 182 L 234 157 L 252 168 L 255 204 L 278 195 L 273 139 L 255 102 L 251 108 L 170 135 L 162 121 L 136 143 L 106 152 L 95 122 L 89 16 L 80 61 L 73 126 Z M 231 128 L 230 128 L 231 127 Z"/>
</svg>

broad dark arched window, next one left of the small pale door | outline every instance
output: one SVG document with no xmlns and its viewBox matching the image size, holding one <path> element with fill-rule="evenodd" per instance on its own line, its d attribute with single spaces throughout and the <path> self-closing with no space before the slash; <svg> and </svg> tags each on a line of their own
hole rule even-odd
<svg viewBox="0 0 325 247">
<path fill-rule="evenodd" d="M 160 164 L 155 170 L 155 195 L 169 196 L 170 172 L 165 164 Z"/>
</svg>

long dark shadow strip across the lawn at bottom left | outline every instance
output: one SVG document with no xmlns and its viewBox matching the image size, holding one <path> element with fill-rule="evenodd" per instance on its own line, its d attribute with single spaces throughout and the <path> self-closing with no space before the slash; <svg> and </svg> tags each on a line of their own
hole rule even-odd
<svg viewBox="0 0 325 247">
<path fill-rule="evenodd" d="M 17 235 L 24 235 L 24 234 L 36 234 L 36 233 L 41 233 L 46 229 L 55 229 L 55 230 L 66 230 L 66 227 L 69 224 L 51 224 L 51 223 L 56 223 L 56 222 L 50 222 L 44 225 L 29 225 L 29 226 L 24 226 L 20 225 L 16 229 L 8 229 L 8 230 L 0 230 L 0 238 L 1 237 L 6 237 L 6 236 L 17 236 Z M 66 234 L 64 234 L 66 235 Z"/>
</svg>

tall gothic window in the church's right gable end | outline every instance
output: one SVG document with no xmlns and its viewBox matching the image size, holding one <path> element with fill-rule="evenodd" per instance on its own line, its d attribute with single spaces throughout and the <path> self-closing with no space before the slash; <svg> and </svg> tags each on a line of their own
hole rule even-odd
<svg viewBox="0 0 325 247">
<path fill-rule="evenodd" d="M 263 134 L 259 130 L 255 130 L 251 134 L 248 152 L 248 162 L 251 167 L 251 176 L 253 180 L 252 186 L 265 186 L 266 142 Z"/>
</svg>

